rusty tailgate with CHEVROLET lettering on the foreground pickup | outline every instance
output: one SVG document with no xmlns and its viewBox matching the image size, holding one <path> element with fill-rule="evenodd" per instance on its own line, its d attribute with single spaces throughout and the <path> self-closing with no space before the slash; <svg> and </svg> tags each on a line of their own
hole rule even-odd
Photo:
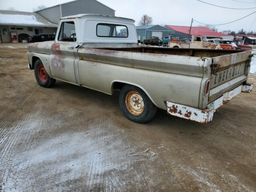
<svg viewBox="0 0 256 192">
<path fill-rule="evenodd" d="M 246 81 L 251 52 L 244 51 L 212 58 L 208 102 L 222 96 Z"/>
</svg>

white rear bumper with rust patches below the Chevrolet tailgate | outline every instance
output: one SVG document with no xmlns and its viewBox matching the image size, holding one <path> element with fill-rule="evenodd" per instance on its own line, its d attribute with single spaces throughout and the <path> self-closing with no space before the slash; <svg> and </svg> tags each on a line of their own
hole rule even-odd
<svg viewBox="0 0 256 192">
<path fill-rule="evenodd" d="M 184 106 L 172 102 L 167 102 L 167 113 L 173 116 L 189 119 L 192 121 L 200 122 L 206 124 L 212 121 L 213 114 L 217 108 L 222 106 L 224 103 L 228 102 L 241 92 L 249 93 L 252 91 L 253 84 L 247 83 L 245 85 L 240 85 L 237 88 L 224 93 L 220 98 L 214 100 L 207 105 L 206 109 L 197 109 L 189 106 Z"/>
</svg>

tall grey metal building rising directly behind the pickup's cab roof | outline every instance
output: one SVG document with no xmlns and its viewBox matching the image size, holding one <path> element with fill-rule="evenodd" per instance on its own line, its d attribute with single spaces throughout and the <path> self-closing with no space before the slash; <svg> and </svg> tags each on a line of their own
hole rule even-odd
<svg viewBox="0 0 256 192">
<path fill-rule="evenodd" d="M 76 14 L 101 14 L 115 16 L 115 10 L 97 0 L 75 0 L 37 11 L 49 21 L 58 24 L 59 19 Z"/>
</svg>

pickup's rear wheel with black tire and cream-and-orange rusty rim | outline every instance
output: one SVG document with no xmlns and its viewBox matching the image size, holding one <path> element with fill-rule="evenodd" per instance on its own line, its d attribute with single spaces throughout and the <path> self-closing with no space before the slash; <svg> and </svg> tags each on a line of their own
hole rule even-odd
<svg viewBox="0 0 256 192">
<path fill-rule="evenodd" d="M 120 92 L 119 104 L 126 118 L 136 123 L 150 121 L 157 110 L 142 89 L 128 84 L 123 86 Z"/>
</svg>

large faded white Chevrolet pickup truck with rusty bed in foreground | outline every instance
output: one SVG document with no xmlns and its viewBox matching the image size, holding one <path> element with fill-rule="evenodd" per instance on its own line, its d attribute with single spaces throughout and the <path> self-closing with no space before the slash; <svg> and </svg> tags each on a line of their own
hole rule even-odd
<svg viewBox="0 0 256 192">
<path fill-rule="evenodd" d="M 157 108 L 207 123 L 224 102 L 252 90 L 250 51 L 140 47 L 134 20 L 126 18 L 64 17 L 54 41 L 28 49 L 28 68 L 40 86 L 57 79 L 110 95 L 120 89 L 122 112 L 138 123 Z"/>
</svg>

